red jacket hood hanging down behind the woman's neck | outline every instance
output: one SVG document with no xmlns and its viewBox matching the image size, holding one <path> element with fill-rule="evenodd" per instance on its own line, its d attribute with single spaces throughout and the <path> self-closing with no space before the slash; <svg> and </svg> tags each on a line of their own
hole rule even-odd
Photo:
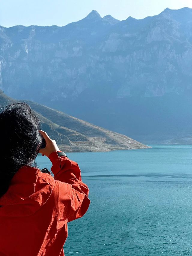
<svg viewBox="0 0 192 256">
<path fill-rule="evenodd" d="M 35 167 L 23 166 L 13 176 L 0 198 L 0 216 L 28 216 L 46 203 L 55 186 L 54 178 Z"/>
</svg>

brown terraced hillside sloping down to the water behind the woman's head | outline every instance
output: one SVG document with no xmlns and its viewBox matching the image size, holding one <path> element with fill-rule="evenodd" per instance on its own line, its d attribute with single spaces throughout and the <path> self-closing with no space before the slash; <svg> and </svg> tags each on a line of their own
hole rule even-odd
<svg viewBox="0 0 192 256">
<path fill-rule="evenodd" d="M 0 91 L 0 107 L 16 102 Z M 32 101 L 26 101 L 39 115 L 42 129 L 65 152 L 99 152 L 117 149 L 149 148 L 118 134 Z"/>
</svg>

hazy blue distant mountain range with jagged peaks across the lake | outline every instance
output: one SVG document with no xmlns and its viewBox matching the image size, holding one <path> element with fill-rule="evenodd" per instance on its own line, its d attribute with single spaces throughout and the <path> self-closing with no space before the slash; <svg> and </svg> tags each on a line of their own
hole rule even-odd
<svg viewBox="0 0 192 256">
<path fill-rule="evenodd" d="M 147 141 L 191 134 L 190 8 L 0 27 L 0 47 L 0 86 L 10 97 Z"/>
</svg>

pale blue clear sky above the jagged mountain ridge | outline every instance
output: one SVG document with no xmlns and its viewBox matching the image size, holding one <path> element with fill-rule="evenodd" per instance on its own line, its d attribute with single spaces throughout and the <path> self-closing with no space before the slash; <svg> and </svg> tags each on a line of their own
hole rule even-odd
<svg viewBox="0 0 192 256">
<path fill-rule="evenodd" d="M 0 0 L 0 25 L 65 26 L 81 20 L 92 10 L 101 17 L 110 14 L 118 20 L 129 16 L 143 19 L 167 7 L 192 8 L 192 0 Z"/>
</svg>

